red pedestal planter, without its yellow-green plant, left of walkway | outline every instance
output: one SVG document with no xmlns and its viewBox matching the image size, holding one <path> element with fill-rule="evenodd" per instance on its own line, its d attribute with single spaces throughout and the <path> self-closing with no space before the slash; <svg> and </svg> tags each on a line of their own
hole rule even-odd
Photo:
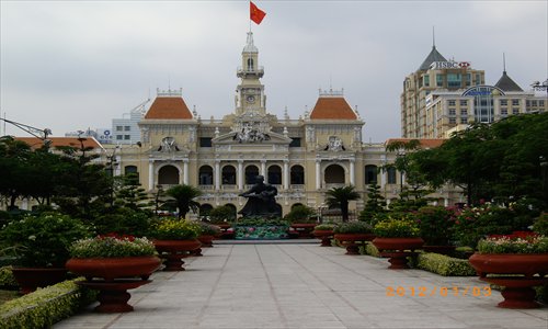
<svg viewBox="0 0 548 329">
<path fill-rule="evenodd" d="M 197 239 L 190 240 L 153 240 L 156 250 L 161 258 L 165 258 L 164 271 L 184 271 L 183 258 L 199 249 L 202 243 Z"/>
</svg>

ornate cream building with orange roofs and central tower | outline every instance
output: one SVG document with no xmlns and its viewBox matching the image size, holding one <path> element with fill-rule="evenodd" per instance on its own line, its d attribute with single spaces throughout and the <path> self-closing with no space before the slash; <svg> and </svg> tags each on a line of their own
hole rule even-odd
<svg viewBox="0 0 548 329">
<path fill-rule="evenodd" d="M 404 175 L 379 170 L 397 154 L 387 152 L 385 144 L 363 143 L 364 122 L 342 91 L 320 91 L 310 112 L 278 118 L 267 111 L 263 75 L 250 32 L 231 113 L 202 120 L 190 111 L 182 90 L 159 90 L 138 123 L 141 144 L 105 154 L 116 159 L 119 173 L 138 172 L 150 193 L 182 183 L 197 186 L 203 209 L 229 205 L 240 211 L 247 200 L 239 194 L 258 174 L 277 188 L 283 214 L 296 204 L 324 208 L 326 192 L 335 186 L 354 185 L 362 194 L 351 203 L 355 212 L 363 208 L 370 184 L 379 184 L 387 200 L 398 197 Z M 438 192 L 441 204 L 461 202 L 455 191 Z"/>
</svg>

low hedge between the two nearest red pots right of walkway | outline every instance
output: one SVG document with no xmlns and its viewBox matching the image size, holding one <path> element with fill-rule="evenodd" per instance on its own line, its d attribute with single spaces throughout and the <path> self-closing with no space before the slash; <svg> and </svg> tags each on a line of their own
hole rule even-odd
<svg viewBox="0 0 548 329">
<path fill-rule="evenodd" d="M 476 276 L 476 271 L 468 260 L 452 258 L 445 254 L 419 253 L 416 268 L 444 276 Z"/>
</svg>

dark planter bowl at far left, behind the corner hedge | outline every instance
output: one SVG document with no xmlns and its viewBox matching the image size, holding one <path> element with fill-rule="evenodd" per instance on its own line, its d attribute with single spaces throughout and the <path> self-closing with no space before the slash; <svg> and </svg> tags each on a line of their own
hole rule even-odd
<svg viewBox="0 0 548 329">
<path fill-rule="evenodd" d="M 23 295 L 34 292 L 37 287 L 46 287 L 65 281 L 65 268 L 13 268 L 13 276 Z"/>
</svg>

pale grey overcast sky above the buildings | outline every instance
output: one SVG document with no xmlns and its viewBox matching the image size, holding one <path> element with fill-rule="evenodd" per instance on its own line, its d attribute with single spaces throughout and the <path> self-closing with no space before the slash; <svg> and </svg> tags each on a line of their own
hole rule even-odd
<svg viewBox="0 0 548 329">
<path fill-rule="evenodd" d="M 400 136 L 400 93 L 432 48 L 494 84 L 548 77 L 538 1 L 265 1 L 253 23 L 267 111 L 298 118 L 318 89 L 344 88 L 364 141 Z M 157 88 L 183 89 L 202 118 L 233 111 L 249 1 L 0 0 L 0 113 L 54 136 L 111 127 Z M 0 133 L 25 136 L 10 125 Z"/>
</svg>

